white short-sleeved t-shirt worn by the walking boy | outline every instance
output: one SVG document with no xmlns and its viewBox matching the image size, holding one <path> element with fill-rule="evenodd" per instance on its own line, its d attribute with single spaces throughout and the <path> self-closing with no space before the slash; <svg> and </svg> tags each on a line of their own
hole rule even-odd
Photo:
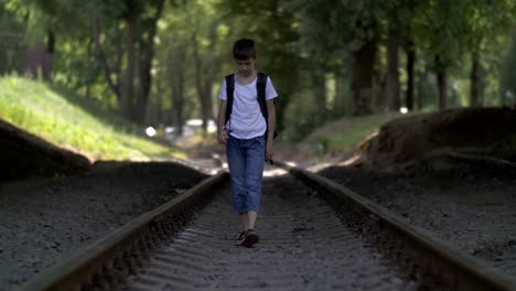
<svg viewBox="0 0 516 291">
<path fill-rule="evenodd" d="M 267 123 L 261 115 L 260 105 L 258 104 L 258 90 L 256 89 L 255 79 L 247 84 L 238 84 L 235 79 L 235 89 L 233 91 L 233 111 L 226 128 L 232 130 L 229 134 L 237 139 L 252 139 L 264 136 L 267 130 Z M 221 86 L 222 100 L 227 100 L 226 79 Z M 267 76 L 266 83 L 266 100 L 278 97 L 278 93 L 272 86 L 272 80 Z"/>
</svg>

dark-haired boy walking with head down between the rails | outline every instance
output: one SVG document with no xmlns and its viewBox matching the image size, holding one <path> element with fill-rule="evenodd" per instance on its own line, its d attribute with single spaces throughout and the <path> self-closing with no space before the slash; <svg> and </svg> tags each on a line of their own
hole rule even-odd
<svg viewBox="0 0 516 291">
<path fill-rule="evenodd" d="M 235 245 L 252 247 L 259 240 L 255 223 L 260 206 L 264 163 L 265 160 L 272 159 L 276 126 L 273 98 L 278 94 L 270 78 L 255 71 L 256 50 L 252 40 L 236 41 L 233 45 L 233 58 L 237 72 L 227 76 L 221 87 L 217 138 L 218 142 L 226 144 L 233 207 L 239 214 L 243 225 Z M 259 76 L 266 78 L 267 120 L 258 103 Z M 227 90 L 227 82 L 234 83 L 232 108 L 228 108 L 228 94 L 232 91 Z M 230 114 L 226 116 L 226 111 Z"/>
</svg>

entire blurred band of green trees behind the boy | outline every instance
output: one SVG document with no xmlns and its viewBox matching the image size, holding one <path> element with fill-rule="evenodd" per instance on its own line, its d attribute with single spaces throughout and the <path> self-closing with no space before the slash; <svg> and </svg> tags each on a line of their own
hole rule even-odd
<svg viewBox="0 0 516 291">
<path fill-rule="evenodd" d="M 257 42 L 279 128 L 513 106 L 516 0 L 0 0 L 0 74 L 62 84 L 135 123 L 207 129 L 232 45 Z"/>
</svg>

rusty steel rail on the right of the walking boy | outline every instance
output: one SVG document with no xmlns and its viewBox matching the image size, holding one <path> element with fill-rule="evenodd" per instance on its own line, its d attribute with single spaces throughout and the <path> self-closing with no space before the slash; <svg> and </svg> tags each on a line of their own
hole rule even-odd
<svg viewBox="0 0 516 291">
<path fill-rule="evenodd" d="M 441 284 L 450 290 L 516 290 L 516 279 L 460 251 L 430 231 L 410 225 L 394 212 L 356 194 L 350 188 L 304 169 L 277 161 L 308 186 L 336 206 L 346 219 L 368 222 L 358 227 L 377 247 L 387 246 L 387 257 L 398 260 L 418 283 Z M 393 248 L 393 245 L 397 246 Z"/>
</svg>

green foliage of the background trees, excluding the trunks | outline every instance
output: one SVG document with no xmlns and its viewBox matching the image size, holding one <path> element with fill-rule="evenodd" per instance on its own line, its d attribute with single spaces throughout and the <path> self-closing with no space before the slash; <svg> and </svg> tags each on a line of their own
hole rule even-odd
<svg viewBox="0 0 516 291">
<path fill-rule="evenodd" d="M 140 17 L 137 43 L 152 26 L 154 3 L 157 0 L 2 0 L 0 24 L 4 31 L 21 33 L 25 44 L 41 42 L 52 31 L 56 36 L 54 82 L 84 95 L 82 98 L 94 99 L 105 109 L 115 109 L 119 107 L 118 100 L 107 86 L 92 42 L 93 21 L 99 21 L 100 43 L 117 83 L 127 67 L 125 19 L 133 14 Z M 447 68 L 450 76 L 449 104 L 467 105 L 472 55 L 479 55 L 482 62 L 485 104 L 499 105 L 501 91 L 505 98 L 503 103 L 513 104 L 512 95 L 505 93 L 514 91 L 512 72 L 516 63 L 510 55 L 507 61 L 503 57 L 515 9 L 515 0 L 166 1 L 155 37 L 147 121 L 171 122 L 172 80 L 180 76 L 184 78 L 184 119 L 200 117 L 193 47 L 198 48 L 201 72 L 216 71 L 212 77 L 204 76 L 213 79 L 213 96 L 216 97 L 222 77 L 234 69 L 230 46 L 236 39 L 246 36 L 257 41 L 257 67 L 271 75 L 280 94 L 277 103 L 280 127 L 281 122 L 290 123 L 294 112 L 298 117 L 310 116 L 297 125 L 299 130 L 294 130 L 293 136 L 299 140 L 311 128 L 350 111 L 350 108 L 335 110 L 332 104 L 329 112 L 314 115 L 310 73 L 350 76 L 351 54 L 367 39 L 377 37 L 375 80 L 383 82 L 389 15 L 394 12 L 399 17 L 401 45 L 410 40 L 417 47 L 417 74 L 421 77 L 417 78 L 416 88 L 419 88 L 421 108 L 434 108 L 437 91 L 432 74 L 439 68 Z M 17 46 L 8 52 L 0 44 L 0 55 L 18 51 L 19 55 L 10 62 L 21 68 L 23 48 Z M 438 54 L 441 63 L 436 65 Z M 405 60 L 401 57 L 400 62 L 404 65 Z M 502 71 L 503 77 L 499 77 Z M 9 72 L 0 67 L 0 73 Z M 453 84 L 459 84 L 456 91 Z"/>
</svg>

